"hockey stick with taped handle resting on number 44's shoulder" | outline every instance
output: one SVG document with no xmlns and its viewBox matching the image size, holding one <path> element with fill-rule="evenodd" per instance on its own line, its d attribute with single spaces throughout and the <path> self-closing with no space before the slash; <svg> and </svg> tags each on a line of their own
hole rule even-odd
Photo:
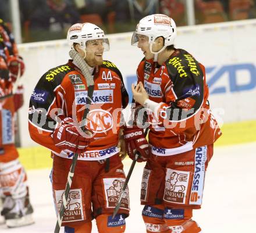
<svg viewBox="0 0 256 233">
<path fill-rule="evenodd" d="M 81 56 L 76 51 L 74 51 L 73 49 L 70 50 L 69 56 L 76 62 L 77 66 L 81 70 L 84 78 L 86 78 L 88 92 L 87 92 L 87 98 L 86 98 L 86 109 L 84 110 L 84 116 L 82 119 L 82 120 L 86 120 L 87 114 L 90 111 L 91 100 L 93 99 L 93 92 L 94 92 L 93 76 L 88 71 L 87 63 L 84 61 L 83 58 L 81 58 Z M 83 126 L 81 127 L 81 130 L 84 131 L 84 128 L 85 128 L 85 124 L 83 124 Z M 64 193 L 64 195 L 62 195 L 61 210 L 58 213 L 58 217 L 57 217 L 58 219 L 57 219 L 57 222 L 55 225 L 54 233 L 59 233 L 59 230 L 61 229 L 62 218 L 63 218 L 63 214 L 65 212 L 66 206 L 67 206 L 67 198 L 69 196 L 70 187 L 72 185 L 72 180 L 73 180 L 73 176 L 74 176 L 74 168 L 76 167 L 76 162 L 77 162 L 78 156 L 79 156 L 78 153 L 74 153 L 74 155 L 73 155 L 72 165 L 70 166 L 69 174 L 67 175 L 65 193 Z"/>
</svg>

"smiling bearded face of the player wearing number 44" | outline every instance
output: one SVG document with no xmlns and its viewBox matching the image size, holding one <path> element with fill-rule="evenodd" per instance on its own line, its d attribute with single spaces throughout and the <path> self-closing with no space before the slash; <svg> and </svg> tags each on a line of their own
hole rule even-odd
<svg viewBox="0 0 256 233">
<path fill-rule="evenodd" d="M 103 63 L 104 45 L 103 40 L 91 40 L 86 42 L 86 62 L 94 67 Z"/>
</svg>

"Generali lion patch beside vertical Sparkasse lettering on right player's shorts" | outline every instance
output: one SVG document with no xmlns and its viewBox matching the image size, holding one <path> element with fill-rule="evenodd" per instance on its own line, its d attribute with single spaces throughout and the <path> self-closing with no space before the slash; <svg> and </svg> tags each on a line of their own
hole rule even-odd
<svg viewBox="0 0 256 233">
<path fill-rule="evenodd" d="M 166 202 L 184 204 L 186 202 L 189 174 L 188 171 L 167 169 L 163 200 Z"/>
</svg>

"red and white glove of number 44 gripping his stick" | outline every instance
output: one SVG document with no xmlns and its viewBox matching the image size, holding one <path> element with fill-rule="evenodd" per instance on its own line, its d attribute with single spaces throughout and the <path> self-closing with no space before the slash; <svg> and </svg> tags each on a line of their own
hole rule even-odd
<svg viewBox="0 0 256 233">
<path fill-rule="evenodd" d="M 63 119 L 64 117 L 60 118 Z M 61 126 L 54 130 L 52 138 L 55 146 L 60 149 L 67 149 L 73 153 L 83 153 L 90 142 L 94 141 L 94 138 L 90 137 L 93 132 L 86 130 L 87 137 L 83 137 L 76 126 L 73 125 L 73 122 L 70 117 L 63 119 Z"/>
</svg>

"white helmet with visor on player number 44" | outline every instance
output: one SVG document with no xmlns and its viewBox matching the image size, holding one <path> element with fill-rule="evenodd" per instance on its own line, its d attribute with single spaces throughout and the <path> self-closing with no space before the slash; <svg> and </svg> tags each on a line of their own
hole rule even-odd
<svg viewBox="0 0 256 233">
<path fill-rule="evenodd" d="M 90 40 L 103 39 L 104 51 L 109 51 L 109 41 L 105 37 L 104 31 L 92 23 L 76 23 L 67 31 L 67 42 L 73 48 L 73 44 L 80 44 L 82 49 L 86 49 L 86 42 Z"/>
</svg>

